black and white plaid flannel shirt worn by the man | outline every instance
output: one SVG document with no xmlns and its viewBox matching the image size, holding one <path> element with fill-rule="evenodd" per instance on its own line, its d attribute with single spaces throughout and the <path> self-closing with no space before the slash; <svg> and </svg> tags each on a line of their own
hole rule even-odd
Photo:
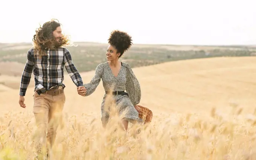
<svg viewBox="0 0 256 160">
<path fill-rule="evenodd" d="M 20 96 L 25 96 L 32 72 L 35 76 L 35 91 L 38 94 L 52 88 L 57 89 L 58 86 L 65 88 L 63 83 L 64 67 L 77 87 L 83 85 L 82 78 L 72 62 L 69 50 L 60 47 L 58 50 L 48 49 L 45 52 L 47 52 L 47 55 L 40 58 L 38 55 L 34 56 L 33 48 L 28 51 L 27 62 L 21 76 Z"/>
</svg>

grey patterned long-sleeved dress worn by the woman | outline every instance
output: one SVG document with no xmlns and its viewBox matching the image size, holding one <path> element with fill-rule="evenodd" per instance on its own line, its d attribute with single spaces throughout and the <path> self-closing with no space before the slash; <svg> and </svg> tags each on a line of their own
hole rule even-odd
<svg viewBox="0 0 256 160">
<path fill-rule="evenodd" d="M 101 79 L 105 91 L 126 91 L 129 94 L 129 96 L 104 94 L 101 104 L 103 126 L 107 124 L 110 118 L 110 108 L 112 106 L 114 106 L 118 115 L 128 122 L 142 123 L 138 111 L 134 108 L 134 105 L 139 104 L 141 99 L 139 81 L 128 63 L 121 62 L 121 64 L 117 77 L 113 75 L 108 62 L 99 64 L 96 67 L 93 79 L 90 83 L 84 84 L 87 89 L 85 96 L 89 96 L 96 90 Z"/>
</svg>

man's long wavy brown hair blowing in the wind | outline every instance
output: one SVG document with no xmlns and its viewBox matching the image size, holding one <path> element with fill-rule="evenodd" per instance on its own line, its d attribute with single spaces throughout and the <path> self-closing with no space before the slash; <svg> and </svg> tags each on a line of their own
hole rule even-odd
<svg viewBox="0 0 256 160">
<path fill-rule="evenodd" d="M 46 54 L 44 52 L 46 49 L 54 50 L 70 44 L 70 40 L 67 36 L 61 37 L 59 42 L 55 39 L 53 31 L 56 30 L 57 27 L 61 26 L 59 21 L 57 21 L 54 19 L 47 21 L 42 27 L 40 25 L 40 27 L 35 30 L 35 35 L 33 36 L 35 56 L 39 55 L 42 57 Z"/>
</svg>

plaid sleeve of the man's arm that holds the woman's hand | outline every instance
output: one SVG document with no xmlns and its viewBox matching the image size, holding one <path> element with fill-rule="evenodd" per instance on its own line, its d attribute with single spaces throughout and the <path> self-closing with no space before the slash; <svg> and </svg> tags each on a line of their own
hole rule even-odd
<svg viewBox="0 0 256 160">
<path fill-rule="evenodd" d="M 67 49 L 65 49 L 64 51 L 64 65 L 67 70 L 67 73 L 69 73 L 69 76 L 71 77 L 74 84 L 77 87 L 83 86 L 82 78 L 78 70 L 76 69 L 75 65 L 73 64 L 71 54 Z"/>
</svg>

